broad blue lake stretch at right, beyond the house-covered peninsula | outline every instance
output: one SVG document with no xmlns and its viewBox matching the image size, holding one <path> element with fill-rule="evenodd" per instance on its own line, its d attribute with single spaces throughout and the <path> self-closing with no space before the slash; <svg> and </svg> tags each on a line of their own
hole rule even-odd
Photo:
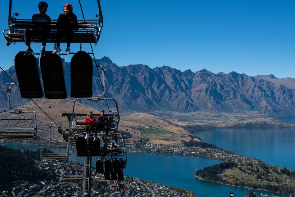
<svg viewBox="0 0 295 197">
<path fill-rule="evenodd" d="M 216 129 L 194 134 L 237 154 L 295 169 L 295 128 Z"/>
</svg>

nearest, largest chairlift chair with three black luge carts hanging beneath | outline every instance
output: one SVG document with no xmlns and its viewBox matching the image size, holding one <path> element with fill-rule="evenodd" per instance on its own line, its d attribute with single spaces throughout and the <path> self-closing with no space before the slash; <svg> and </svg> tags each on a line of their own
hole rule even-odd
<svg viewBox="0 0 295 197">
<path fill-rule="evenodd" d="M 100 1 L 97 1 L 99 13 L 97 19 L 78 20 L 76 27 L 78 30 L 73 34 L 71 43 L 80 43 L 80 51 L 72 53 L 71 60 L 71 97 L 91 97 L 92 96 L 92 70 L 93 64 L 89 54 L 82 51 L 82 43 L 94 43 L 99 41 L 103 27 L 103 17 Z M 3 31 L 6 45 L 11 43 L 25 42 L 24 30 L 28 28 L 49 28 L 47 43 L 56 43 L 57 30 L 60 27 L 75 27 L 75 25 L 59 24 L 57 19 L 51 22 L 32 22 L 32 19 L 19 19 L 19 13 L 12 13 L 12 0 L 9 0 L 8 29 Z M 34 34 L 31 42 L 41 43 L 42 35 Z M 66 35 L 62 35 L 60 43 L 67 43 Z M 92 46 L 91 46 L 92 49 Z M 46 51 L 45 56 L 40 58 L 40 68 L 44 87 L 45 98 L 64 99 L 67 98 L 67 91 L 64 79 L 64 60 L 60 55 Z M 42 85 L 40 82 L 39 61 L 33 55 L 24 56 L 24 51 L 20 51 L 15 56 L 15 68 L 22 98 L 41 98 L 43 97 Z M 97 66 L 97 65 L 96 65 Z"/>
</svg>

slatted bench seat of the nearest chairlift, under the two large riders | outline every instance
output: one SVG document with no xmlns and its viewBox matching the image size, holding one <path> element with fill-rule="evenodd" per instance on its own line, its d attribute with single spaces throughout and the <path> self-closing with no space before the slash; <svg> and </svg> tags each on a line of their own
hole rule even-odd
<svg viewBox="0 0 295 197">
<path fill-rule="evenodd" d="M 10 22 L 9 30 L 4 30 L 3 36 L 7 41 L 7 45 L 11 43 L 25 42 L 24 30 L 34 27 L 49 28 L 47 36 L 47 43 L 56 43 L 57 26 L 56 19 L 53 19 L 50 23 L 38 23 L 32 22 L 31 19 L 15 19 Z M 83 22 L 82 22 L 83 21 Z M 97 20 L 78 20 L 78 30 L 73 33 L 73 39 L 71 43 L 97 43 L 99 40 L 100 30 L 97 27 Z M 60 26 L 61 27 L 61 26 Z M 73 27 L 73 26 L 70 26 Z M 42 43 L 42 36 L 35 33 L 31 37 L 31 42 Z M 67 43 L 66 35 L 61 36 L 61 43 Z"/>
</svg>

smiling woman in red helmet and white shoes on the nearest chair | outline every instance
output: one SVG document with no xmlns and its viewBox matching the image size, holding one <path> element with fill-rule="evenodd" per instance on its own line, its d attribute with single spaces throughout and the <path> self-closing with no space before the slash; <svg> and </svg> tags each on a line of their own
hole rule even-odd
<svg viewBox="0 0 295 197">
<path fill-rule="evenodd" d="M 78 20 L 77 20 L 77 16 L 73 13 L 73 6 L 71 4 L 65 4 L 63 6 L 63 14 L 60 14 L 58 19 L 57 19 L 57 25 L 67 25 L 67 24 L 71 24 L 71 25 L 77 25 L 78 24 Z M 75 27 L 68 27 L 65 26 L 63 28 L 59 27 L 57 30 L 57 34 L 56 34 L 56 48 L 54 49 L 54 51 L 52 52 L 53 54 L 58 53 L 61 51 L 60 49 L 60 39 L 61 39 L 61 35 L 65 34 L 67 35 L 67 48 L 65 49 L 65 51 L 70 54 L 71 53 L 71 49 L 70 49 L 70 45 L 71 45 L 71 41 L 73 39 L 73 33 L 74 31 L 78 30 L 78 26 Z"/>
</svg>

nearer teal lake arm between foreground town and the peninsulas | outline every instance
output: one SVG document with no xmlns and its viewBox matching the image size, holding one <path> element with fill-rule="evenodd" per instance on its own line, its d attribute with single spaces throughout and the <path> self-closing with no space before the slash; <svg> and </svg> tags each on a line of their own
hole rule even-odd
<svg viewBox="0 0 295 197">
<path fill-rule="evenodd" d="M 21 144 L 4 144 L 11 148 L 22 148 L 37 150 L 37 145 L 21 145 Z M 76 151 L 74 149 L 74 151 Z M 74 154 L 71 154 L 71 160 L 77 161 Z M 196 168 L 218 164 L 221 161 L 207 159 L 203 157 L 164 155 L 153 153 L 128 153 L 127 167 L 124 174 L 134 176 L 140 179 L 166 184 L 167 186 L 181 187 L 189 189 L 195 193 L 194 196 L 229 196 L 230 192 L 234 192 L 235 196 L 244 196 L 248 191 L 246 188 L 239 188 L 230 185 L 212 183 L 209 181 L 198 180 L 194 177 Z M 84 157 L 78 157 L 78 161 L 84 163 Z M 92 165 L 95 166 L 96 158 L 92 158 Z M 266 191 L 256 191 L 257 193 L 268 194 L 271 196 L 280 196 L 277 193 Z"/>
</svg>

